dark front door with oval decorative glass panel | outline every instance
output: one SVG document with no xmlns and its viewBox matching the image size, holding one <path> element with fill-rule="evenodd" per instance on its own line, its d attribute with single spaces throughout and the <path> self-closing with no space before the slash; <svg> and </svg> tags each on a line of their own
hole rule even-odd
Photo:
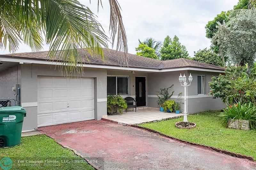
<svg viewBox="0 0 256 170">
<path fill-rule="evenodd" d="M 135 94 L 137 106 L 146 106 L 146 78 L 135 77 Z"/>
</svg>

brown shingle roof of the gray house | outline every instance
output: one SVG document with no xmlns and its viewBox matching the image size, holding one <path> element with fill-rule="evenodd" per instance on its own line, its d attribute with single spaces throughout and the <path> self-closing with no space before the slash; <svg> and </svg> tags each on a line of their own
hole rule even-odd
<svg viewBox="0 0 256 170">
<path fill-rule="evenodd" d="M 79 49 L 79 54 L 81 56 L 82 62 L 89 63 L 87 57 L 90 61 L 90 64 L 97 65 L 109 65 L 109 66 L 120 66 L 124 53 L 112 49 L 104 50 L 105 62 L 101 59 L 100 56 L 91 56 L 87 50 Z M 24 59 L 35 59 L 35 60 L 47 60 L 48 51 L 39 51 L 39 52 L 28 52 L 28 53 L 14 53 L 0 55 L 2 57 L 12 57 L 12 58 L 24 58 Z M 225 70 L 223 67 L 201 63 L 193 60 L 188 60 L 184 58 L 173 59 L 173 60 L 155 60 L 151 58 L 146 58 L 134 54 L 129 54 L 128 66 L 134 68 L 146 68 L 146 69 L 171 69 L 171 68 L 180 68 L 180 67 L 197 67 L 205 69 L 214 69 L 214 70 Z M 57 59 L 57 58 L 56 58 Z"/>
</svg>

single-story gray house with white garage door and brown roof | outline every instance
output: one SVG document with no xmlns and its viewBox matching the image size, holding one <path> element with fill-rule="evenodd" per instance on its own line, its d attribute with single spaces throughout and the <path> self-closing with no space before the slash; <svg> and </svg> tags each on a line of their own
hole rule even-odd
<svg viewBox="0 0 256 170">
<path fill-rule="evenodd" d="M 224 107 L 221 100 L 207 95 L 208 82 L 224 72 L 222 67 L 184 58 L 160 61 L 133 54 L 129 54 L 128 67 L 121 67 L 123 52 L 104 49 L 105 62 L 82 49 L 79 52 L 84 62 L 79 78 L 63 77 L 60 63 L 47 60 L 47 51 L 0 55 L 0 98 L 15 98 L 12 87 L 20 85 L 21 106 L 27 110 L 23 130 L 100 120 L 107 116 L 108 94 L 131 96 L 139 107 L 159 107 L 159 88 L 173 84 L 172 99 L 184 92 L 178 81 L 180 73 L 191 73 L 194 78 L 187 92 L 188 113 Z"/>
</svg>

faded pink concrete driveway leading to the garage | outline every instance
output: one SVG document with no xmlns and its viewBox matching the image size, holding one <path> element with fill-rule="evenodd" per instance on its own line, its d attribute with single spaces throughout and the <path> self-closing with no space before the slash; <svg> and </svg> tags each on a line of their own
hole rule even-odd
<svg viewBox="0 0 256 170">
<path fill-rule="evenodd" d="M 84 157 L 104 158 L 104 169 L 256 169 L 256 163 L 246 159 L 105 121 L 38 129 Z"/>
</svg>

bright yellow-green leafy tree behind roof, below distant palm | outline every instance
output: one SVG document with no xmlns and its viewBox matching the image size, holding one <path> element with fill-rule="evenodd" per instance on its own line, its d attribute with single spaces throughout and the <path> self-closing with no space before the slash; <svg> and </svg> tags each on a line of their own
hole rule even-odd
<svg viewBox="0 0 256 170">
<path fill-rule="evenodd" d="M 139 47 L 135 48 L 135 50 L 137 51 L 136 55 L 159 59 L 156 55 L 155 49 L 148 47 L 146 44 L 140 44 Z"/>
</svg>

